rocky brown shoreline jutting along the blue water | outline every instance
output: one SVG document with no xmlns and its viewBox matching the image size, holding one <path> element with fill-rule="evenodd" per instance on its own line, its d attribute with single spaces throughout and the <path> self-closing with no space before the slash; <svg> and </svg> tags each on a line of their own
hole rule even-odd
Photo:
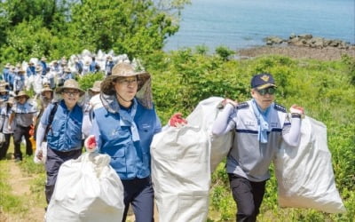
<svg viewBox="0 0 355 222">
<path fill-rule="evenodd" d="M 248 59 L 263 55 L 283 55 L 293 59 L 338 60 L 344 54 L 355 58 L 355 45 L 312 35 L 291 35 L 288 40 L 277 36 L 265 39 L 266 45 L 241 49 L 237 56 Z"/>
</svg>

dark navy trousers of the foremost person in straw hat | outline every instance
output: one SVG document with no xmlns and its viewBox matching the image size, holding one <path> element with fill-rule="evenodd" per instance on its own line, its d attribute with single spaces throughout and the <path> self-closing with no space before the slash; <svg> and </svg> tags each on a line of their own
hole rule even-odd
<svg viewBox="0 0 355 222">
<path fill-rule="evenodd" d="M 154 190 L 151 178 L 122 180 L 122 184 L 125 206 L 122 221 L 126 221 L 131 204 L 136 222 L 154 222 Z"/>
</svg>

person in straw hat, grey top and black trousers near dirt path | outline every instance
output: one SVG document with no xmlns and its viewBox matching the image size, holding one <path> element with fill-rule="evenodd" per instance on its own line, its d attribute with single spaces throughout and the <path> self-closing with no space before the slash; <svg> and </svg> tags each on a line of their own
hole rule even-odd
<svg viewBox="0 0 355 222">
<path fill-rule="evenodd" d="M 37 114 L 36 106 L 29 100 L 28 94 L 25 91 L 20 91 L 16 96 L 16 103 L 12 107 L 12 114 L 8 122 L 9 131 L 13 128 L 13 144 L 15 148 L 15 161 L 22 161 L 22 152 L 20 150 L 22 136 L 26 139 L 26 155 L 32 155 L 32 144 L 29 140 L 29 130 L 34 118 Z"/>
</svg>

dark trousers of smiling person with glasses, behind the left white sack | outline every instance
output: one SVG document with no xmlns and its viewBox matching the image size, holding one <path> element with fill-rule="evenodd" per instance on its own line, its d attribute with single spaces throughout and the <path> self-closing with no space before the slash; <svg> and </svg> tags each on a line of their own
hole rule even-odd
<svg viewBox="0 0 355 222">
<path fill-rule="evenodd" d="M 47 148 L 47 161 L 45 162 L 45 170 L 47 171 L 47 182 L 45 184 L 45 199 L 47 203 L 51 201 L 51 195 L 54 192 L 54 186 L 57 181 L 59 167 L 62 163 L 76 159 L 82 155 L 82 149 L 75 149 L 68 152 L 60 152 L 50 147 Z"/>
</svg>

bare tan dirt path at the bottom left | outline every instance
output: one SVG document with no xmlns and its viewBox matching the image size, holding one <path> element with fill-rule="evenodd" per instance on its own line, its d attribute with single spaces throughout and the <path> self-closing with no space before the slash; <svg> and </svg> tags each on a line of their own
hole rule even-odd
<svg viewBox="0 0 355 222">
<path fill-rule="evenodd" d="M 40 222 L 44 218 L 43 207 L 38 207 L 36 197 L 31 193 L 31 182 L 34 178 L 25 176 L 20 170 L 20 166 L 12 160 L 7 163 L 8 175 L 10 178 L 7 183 L 12 186 L 12 194 L 19 196 L 24 205 L 28 207 L 26 214 L 19 212 L 18 214 L 5 214 L 6 222 Z M 3 219 L 3 218 L 2 218 Z"/>
</svg>

